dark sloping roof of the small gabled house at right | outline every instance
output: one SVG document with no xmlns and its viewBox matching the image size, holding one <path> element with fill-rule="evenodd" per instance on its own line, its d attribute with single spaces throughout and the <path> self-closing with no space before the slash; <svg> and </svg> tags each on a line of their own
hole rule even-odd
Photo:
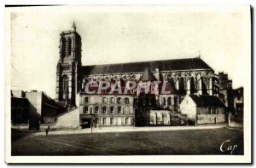
<svg viewBox="0 0 256 168">
<path fill-rule="evenodd" d="M 189 95 L 197 107 L 225 107 L 224 102 L 221 101 L 218 96 L 198 96 Z"/>
</svg>

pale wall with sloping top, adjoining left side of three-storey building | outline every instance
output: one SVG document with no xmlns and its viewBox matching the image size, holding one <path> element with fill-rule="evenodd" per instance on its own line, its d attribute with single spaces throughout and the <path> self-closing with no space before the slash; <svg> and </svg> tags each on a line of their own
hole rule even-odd
<svg viewBox="0 0 256 168">
<path fill-rule="evenodd" d="M 57 117 L 54 129 L 79 129 L 79 108 Z"/>
</svg>

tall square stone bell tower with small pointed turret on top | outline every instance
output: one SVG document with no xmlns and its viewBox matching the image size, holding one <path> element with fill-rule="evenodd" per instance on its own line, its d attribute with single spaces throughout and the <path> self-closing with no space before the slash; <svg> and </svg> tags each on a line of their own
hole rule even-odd
<svg viewBox="0 0 256 168">
<path fill-rule="evenodd" d="M 78 107 L 79 76 L 81 72 L 81 37 L 72 29 L 61 32 L 60 59 L 56 72 L 56 101 L 66 101 L 70 107 Z"/>
</svg>

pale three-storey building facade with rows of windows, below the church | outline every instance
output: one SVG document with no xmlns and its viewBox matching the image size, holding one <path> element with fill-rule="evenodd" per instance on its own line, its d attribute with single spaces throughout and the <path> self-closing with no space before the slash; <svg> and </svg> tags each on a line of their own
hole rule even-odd
<svg viewBox="0 0 256 168">
<path fill-rule="evenodd" d="M 81 128 L 134 125 L 133 95 L 80 94 Z"/>
</svg>

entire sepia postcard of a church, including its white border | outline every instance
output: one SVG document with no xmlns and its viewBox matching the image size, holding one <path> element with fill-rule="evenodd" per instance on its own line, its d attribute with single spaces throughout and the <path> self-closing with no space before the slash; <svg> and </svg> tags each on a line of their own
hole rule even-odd
<svg viewBox="0 0 256 168">
<path fill-rule="evenodd" d="M 251 163 L 250 5 L 5 13 L 7 163 Z"/>
</svg>

